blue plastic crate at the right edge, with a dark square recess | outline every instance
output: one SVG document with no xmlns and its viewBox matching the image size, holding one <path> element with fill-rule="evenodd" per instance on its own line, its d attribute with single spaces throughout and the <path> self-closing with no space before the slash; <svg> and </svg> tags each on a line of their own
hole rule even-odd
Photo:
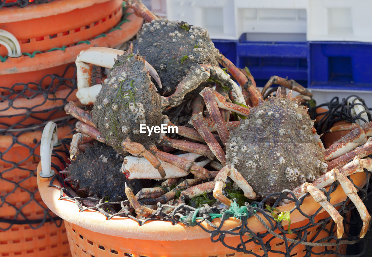
<svg viewBox="0 0 372 257">
<path fill-rule="evenodd" d="M 372 90 L 372 44 L 310 42 L 308 86 Z"/>
</svg>

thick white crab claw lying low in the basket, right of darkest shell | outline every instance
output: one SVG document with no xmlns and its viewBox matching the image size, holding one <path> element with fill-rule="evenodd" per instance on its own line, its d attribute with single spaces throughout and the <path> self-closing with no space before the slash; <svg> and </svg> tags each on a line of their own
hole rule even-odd
<svg viewBox="0 0 372 257">
<path fill-rule="evenodd" d="M 195 160 L 201 157 L 201 155 L 193 152 L 187 152 L 186 154 L 179 154 L 177 156 L 187 161 L 191 161 L 200 167 L 204 167 L 211 161 L 210 159 L 206 158 L 205 160 L 195 162 Z M 167 163 L 166 161 L 161 161 L 161 166 L 163 166 L 166 172 L 165 179 L 185 177 L 187 174 L 189 174 L 182 168 L 176 167 L 170 163 Z M 134 157 L 130 155 L 124 157 L 121 171 L 125 174 L 127 179 L 161 179 L 161 176 L 157 170 L 143 157 Z"/>
</svg>

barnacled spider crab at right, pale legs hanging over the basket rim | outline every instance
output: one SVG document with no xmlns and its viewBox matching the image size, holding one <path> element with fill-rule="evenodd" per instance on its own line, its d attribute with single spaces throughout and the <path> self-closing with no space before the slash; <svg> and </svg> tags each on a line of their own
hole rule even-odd
<svg viewBox="0 0 372 257">
<path fill-rule="evenodd" d="M 201 95 L 205 96 L 211 91 L 213 90 L 205 88 Z M 218 95 L 215 91 L 213 94 Z M 209 113 L 213 113 L 211 116 L 221 124 L 225 124 L 226 128 L 227 123 L 224 122 L 218 108 L 208 103 L 206 106 Z M 246 119 L 230 124 L 234 127 L 231 132 L 228 131 L 227 134 L 218 132 L 221 139 L 225 137 L 225 152 L 218 144 L 210 146 L 221 148 L 220 150 L 224 152 L 224 155 L 217 156 L 223 167 L 214 181 L 198 184 L 182 191 L 178 203 L 203 192 L 213 192 L 215 198 L 230 206 L 232 201 L 222 193 L 227 177 L 230 177 L 249 199 L 265 198 L 266 201 L 272 202 L 276 199 L 269 195 L 281 192 L 283 189 L 291 189 L 296 197 L 310 193 L 336 222 L 337 237 L 341 238 L 343 218 L 334 206 L 327 202 L 324 193 L 318 189 L 337 180 L 360 213 L 363 227 L 359 236 L 364 237 L 371 216 L 347 176 L 362 172 L 363 168 L 372 170 L 372 159 L 360 159 L 372 153 L 372 139 L 367 140 L 372 136 L 372 122 L 362 126 L 353 124 L 336 128 L 352 129 L 352 131 L 324 150 L 320 136 L 313 127 L 314 122 L 307 114 L 307 109 L 299 106 L 296 100 L 292 100 L 291 90 L 283 98 L 278 89 L 276 97 L 270 97 L 268 101 L 260 101 L 257 107 L 247 108 L 247 110 Z M 205 129 L 202 133 L 211 132 Z M 351 151 L 358 145 L 362 146 Z M 126 188 L 125 192 L 136 211 L 148 214 L 154 212 L 145 206 L 140 206 L 129 188 Z M 153 204 L 158 200 L 162 199 L 144 202 Z"/>
</svg>

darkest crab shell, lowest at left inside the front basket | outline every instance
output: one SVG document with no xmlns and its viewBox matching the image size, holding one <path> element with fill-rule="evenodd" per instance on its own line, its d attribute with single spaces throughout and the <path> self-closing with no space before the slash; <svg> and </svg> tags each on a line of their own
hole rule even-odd
<svg viewBox="0 0 372 257">
<path fill-rule="evenodd" d="M 96 142 L 67 167 L 65 174 L 68 177 L 65 181 L 91 196 L 121 196 L 126 199 L 125 182 L 137 193 L 146 180 L 127 180 L 121 172 L 122 161 L 123 158 L 120 158 L 112 147 Z"/>
</svg>

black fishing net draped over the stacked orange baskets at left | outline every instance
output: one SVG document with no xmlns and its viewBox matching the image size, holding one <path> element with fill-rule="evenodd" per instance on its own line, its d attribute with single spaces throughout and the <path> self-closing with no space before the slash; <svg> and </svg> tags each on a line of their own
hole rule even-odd
<svg viewBox="0 0 372 257">
<path fill-rule="evenodd" d="M 56 122 L 61 136 L 74 129 L 74 120 L 65 114 L 63 107 L 76 89 L 75 75 L 75 65 L 69 65 L 61 76 L 51 74 L 39 83 L 0 87 L 0 105 L 5 106 L 0 110 L 1 230 L 8 230 L 14 224 L 28 224 L 33 229 L 45 222 L 61 225 L 41 200 L 36 168 L 47 122 Z"/>
</svg>

